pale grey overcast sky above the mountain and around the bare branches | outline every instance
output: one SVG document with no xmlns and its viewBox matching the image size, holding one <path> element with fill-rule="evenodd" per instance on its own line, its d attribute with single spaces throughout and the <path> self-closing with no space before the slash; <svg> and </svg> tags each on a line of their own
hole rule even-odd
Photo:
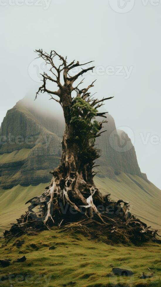
<svg viewBox="0 0 161 287">
<path fill-rule="evenodd" d="M 160 1 L 0 0 L 0 19 L 0 122 L 40 85 L 43 63 L 33 61 L 34 49 L 95 60 L 86 82 L 97 78 L 98 97 L 114 95 L 105 107 L 134 139 L 141 171 L 161 189 Z"/>
</svg>

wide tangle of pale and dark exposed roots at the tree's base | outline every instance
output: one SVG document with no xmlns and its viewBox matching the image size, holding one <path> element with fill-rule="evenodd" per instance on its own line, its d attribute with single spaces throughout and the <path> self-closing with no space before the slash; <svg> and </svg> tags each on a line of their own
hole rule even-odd
<svg viewBox="0 0 161 287">
<path fill-rule="evenodd" d="M 65 189 L 63 193 L 58 192 L 57 184 L 53 184 L 41 197 L 30 200 L 29 212 L 22 215 L 16 224 L 12 224 L 10 231 L 5 231 L 4 236 L 10 240 L 24 233 L 50 230 L 53 226 L 57 226 L 62 231 L 82 232 L 93 237 L 101 236 L 101 238 L 103 236 L 103 240 L 106 242 L 138 243 L 157 239 L 157 230 L 151 230 L 145 223 L 137 219 L 129 211 L 128 202 L 111 201 L 108 194 L 103 197 L 102 207 L 104 209 L 100 211 L 96 207 L 98 204 L 95 197 L 96 190 L 92 189 L 91 195 L 86 200 L 87 205 L 79 205 L 78 208 L 70 200 L 68 192 Z M 46 204 L 44 204 L 45 200 Z M 39 202 L 42 203 L 40 213 L 37 214 L 37 217 L 33 217 L 31 206 L 36 206 Z M 65 207 L 65 204 L 67 204 L 67 209 L 65 213 L 62 213 L 60 206 Z M 77 211 L 74 216 L 70 213 L 70 206 Z M 110 206 L 113 213 L 109 212 L 106 206 Z M 84 210 L 83 213 L 80 208 Z M 55 220 L 53 220 L 53 216 Z"/>
</svg>

